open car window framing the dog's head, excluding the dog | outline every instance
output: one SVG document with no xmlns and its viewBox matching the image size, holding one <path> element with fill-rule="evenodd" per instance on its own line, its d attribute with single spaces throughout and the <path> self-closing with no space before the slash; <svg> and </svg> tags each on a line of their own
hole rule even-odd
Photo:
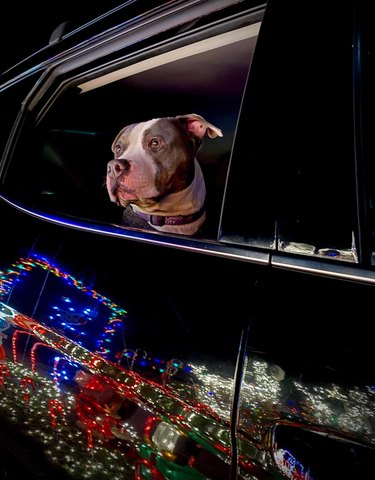
<svg viewBox="0 0 375 480">
<path fill-rule="evenodd" d="M 106 188 L 107 163 L 115 156 L 112 144 L 119 132 L 155 118 L 196 115 L 212 125 L 204 138 L 197 137 L 201 145 L 195 169 L 202 170 L 206 195 L 200 206 L 207 212 L 200 236 L 217 240 L 228 163 L 259 28 L 257 13 L 228 21 L 219 30 L 215 27 L 210 35 L 192 35 L 183 46 L 169 42 L 147 55 L 140 53 L 109 73 L 106 69 L 70 82 L 64 79 L 51 106 L 38 108 L 37 118 L 25 128 L 8 170 L 7 191 L 33 208 L 122 225 L 124 209 L 111 201 Z M 26 145 L 27 158 L 22 153 Z M 170 161 L 166 175 L 173 168 Z M 21 178 L 20 169 L 25 172 Z M 176 175 L 181 182 L 186 174 Z M 161 177 L 158 192 L 171 188 Z M 153 196 L 161 198 L 160 204 L 164 200 L 164 194 Z M 193 203 L 196 196 L 194 191 Z M 142 213 L 148 213 L 147 208 Z"/>
</svg>

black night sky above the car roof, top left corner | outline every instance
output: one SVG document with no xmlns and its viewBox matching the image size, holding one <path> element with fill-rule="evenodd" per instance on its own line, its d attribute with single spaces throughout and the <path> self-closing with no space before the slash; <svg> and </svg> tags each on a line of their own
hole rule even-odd
<svg viewBox="0 0 375 480">
<path fill-rule="evenodd" d="M 122 5 L 121 0 L 63 0 L 60 2 L 7 2 L 1 12 L 0 74 L 48 45 L 54 29 L 63 22 L 74 29 Z"/>
</svg>

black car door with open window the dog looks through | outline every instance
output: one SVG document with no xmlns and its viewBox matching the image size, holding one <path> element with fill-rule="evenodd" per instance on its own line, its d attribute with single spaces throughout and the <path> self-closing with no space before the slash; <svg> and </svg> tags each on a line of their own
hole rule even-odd
<svg viewBox="0 0 375 480">
<path fill-rule="evenodd" d="M 137 17 L 125 8 L 123 24 L 66 50 L 63 38 L 17 97 L 17 117 L 8 111 L 3 412 L 25 449 L 46 445 L 45 478 L 236 475 L 238 349 L 269 256 L 245 253 L 249 270 L 217 231 L 263 12 L 233 1 L 172 2 Z M 27 78 L 4 84 L 4 98 Z M 126 228 L 103 188 L 114 137 L 146 115 L 194 111 L 224 130 L 199 152 L 207 233 Z M 11 463 L 8 473 L 27 469 Z"/>
</svg>

